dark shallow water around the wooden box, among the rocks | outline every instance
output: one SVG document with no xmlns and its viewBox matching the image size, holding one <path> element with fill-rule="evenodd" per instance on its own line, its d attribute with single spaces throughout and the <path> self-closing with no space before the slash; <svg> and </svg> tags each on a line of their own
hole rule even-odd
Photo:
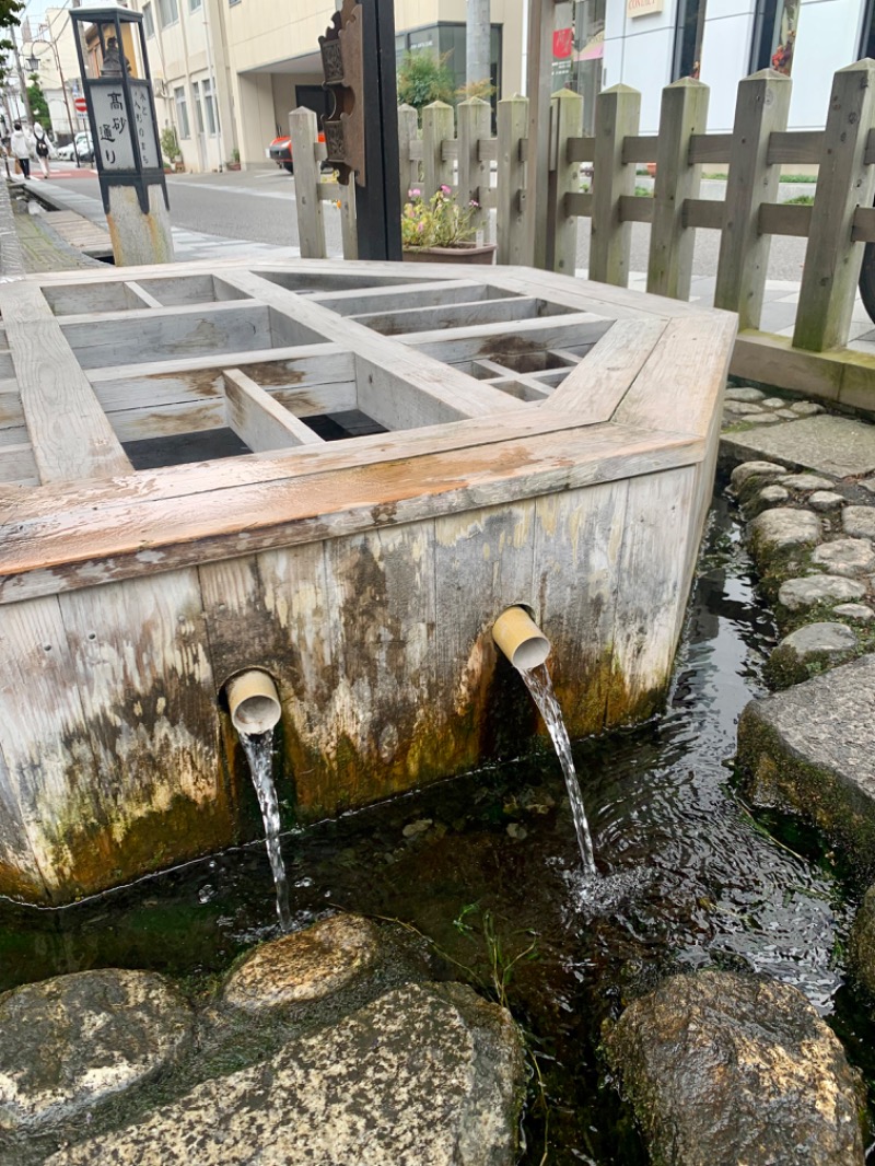
<svg viewBox="0 0 875 1166">
<path fill-rule="evenodd" d="M 596 1046 L 602 1020 L 666 971 L 766 972 L 834 1018 L 852 1059 L 853 1032 L 868 1040 L 844 984 L 854 904 L 811 840 L 755 819 L 733 785 L 736 721 L 764 690 L 774 642 L 740 525 L 719 498 L 667 711 L 574 747 L 597 862 L 618 886 L 597 911 L 580 902 L 570 813 L 546 745 L 284 837 L 294 927 L 336 907 L 398 919 L 446 954 L 447 978 L 487 988 L 527 953 L 509 974 L 508 1002 L 544 1075 L 552 1163 L 646 1160 L 628 1111 L 600 1088 Z M 258 844 L 64 911 L 0 905 L 0 989 L 100 967 L 196 988 L 275 934 Z M 541 1160 L 542 1135 L 534 1091 L 524 1161 Z"/>
</svg>

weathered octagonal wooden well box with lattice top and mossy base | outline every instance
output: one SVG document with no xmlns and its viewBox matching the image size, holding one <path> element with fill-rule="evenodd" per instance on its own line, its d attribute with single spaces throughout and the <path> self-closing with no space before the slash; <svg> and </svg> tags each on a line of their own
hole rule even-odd
<svg viewBox="0 0 875 1166">
<path fill-rule="evenodd" d="M 734 316 L 340 261 L 24 278 L 0 314 L 0 892 L 239 840 L 247 667 L 303 821 L 483 760 L 512 603 L 573 735 L 658 705 Z"/>
</svg>

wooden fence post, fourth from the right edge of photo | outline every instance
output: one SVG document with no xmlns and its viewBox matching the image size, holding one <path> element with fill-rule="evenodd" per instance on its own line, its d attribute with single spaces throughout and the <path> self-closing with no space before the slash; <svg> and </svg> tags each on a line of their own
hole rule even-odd
<svg viewBox="0 0 875 1166">
<path fill-rule="evenodd" d="M 632 224 L 620 217 L 620 199 L 635 194 L 635 164 L 623 164 L 623 139 L 638 133 L 640 93 L 614 85 L 595 99 L 593 217 L 589 227 L 589 279 L 629 286 Z"/>
</svg>

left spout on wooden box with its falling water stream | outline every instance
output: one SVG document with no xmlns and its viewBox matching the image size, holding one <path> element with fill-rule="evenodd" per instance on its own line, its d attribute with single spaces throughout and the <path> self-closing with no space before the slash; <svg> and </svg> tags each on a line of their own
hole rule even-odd
<svg viewBox="0 0 875 1166">
<path fill-rule="evenodd" d="M 280 927 L 287 932 L 292 927 L 292 912 L 280 849 L 280 808 L 272 775 L 273 730 L 282 711 L 279 694 L 272 677 L 259 668 L 235 676 L 229 681 L 226 691 L 231 723 L 250 763 L 252 784 L 265 823 L 265 845 L 276 887 L 276 914 Z"/>
</svg>

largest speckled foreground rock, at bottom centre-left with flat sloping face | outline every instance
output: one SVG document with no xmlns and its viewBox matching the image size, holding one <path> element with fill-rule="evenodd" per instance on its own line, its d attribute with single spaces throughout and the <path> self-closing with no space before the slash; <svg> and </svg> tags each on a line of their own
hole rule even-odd
<svg viewBox="0 0 875 1166">
<path fill-rule="evenodd" d="M 459 984 L 408 984 L 48 1161 L 511 1166 L 523 1089 L 508 1012 Z"/>
</svg>

